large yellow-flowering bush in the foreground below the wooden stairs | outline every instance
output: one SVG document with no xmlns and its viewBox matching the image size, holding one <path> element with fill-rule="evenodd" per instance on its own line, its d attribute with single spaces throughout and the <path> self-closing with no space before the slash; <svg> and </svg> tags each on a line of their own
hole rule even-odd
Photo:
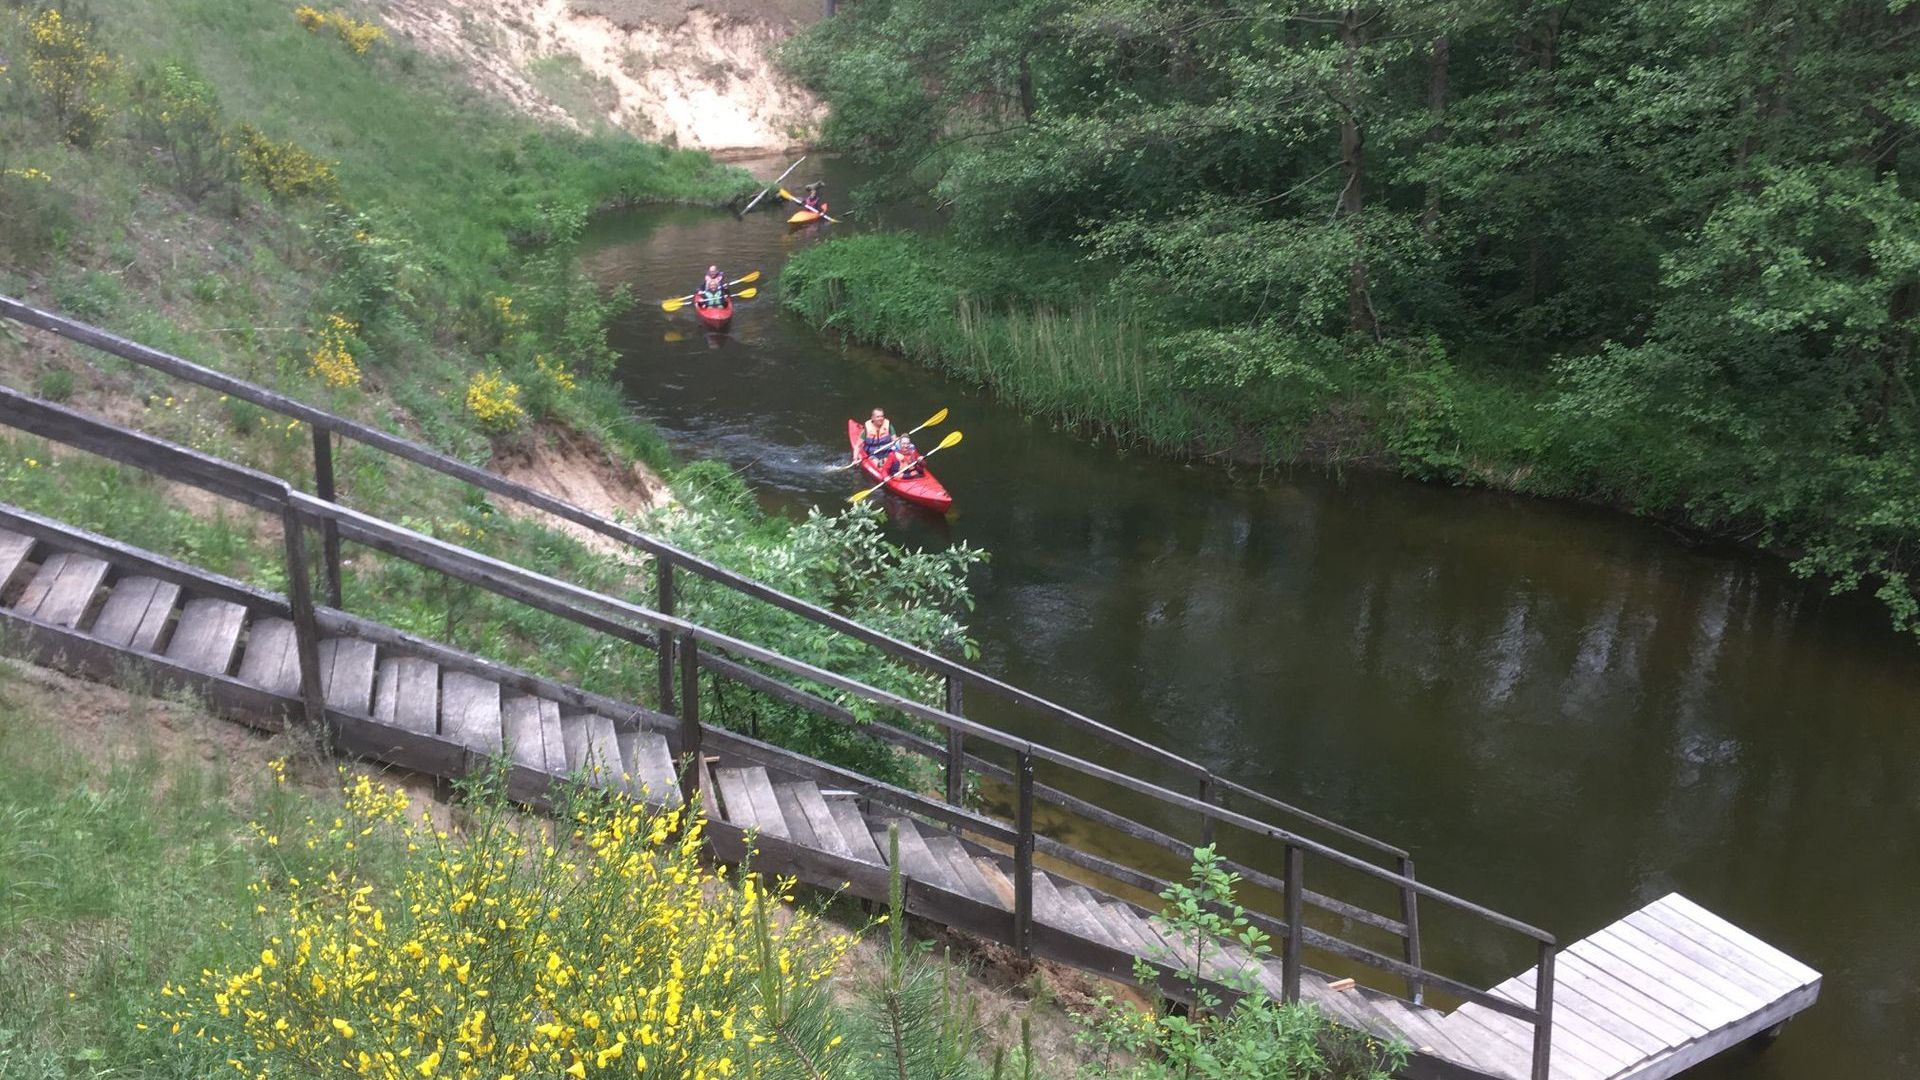
<svg viewBox="0 0 1920 1080">
<path fill-rule="evenodd" d="M 495 786 L 449 834 L 359 776 L 330 822 L 259 824 L 280 869 L 250 959 L 165 986 L 156 1019 L 242 1076 L 841 1074 L 820 984 L 851 936 L 705 869 L 697 813 L 578 790 L 559 821 Z"/>
</svg>

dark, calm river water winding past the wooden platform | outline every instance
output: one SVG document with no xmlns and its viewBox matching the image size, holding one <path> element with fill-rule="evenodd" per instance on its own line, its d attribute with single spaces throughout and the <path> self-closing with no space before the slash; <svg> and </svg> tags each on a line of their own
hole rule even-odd
<svg viewBox="0 0 1920 1080">
<path fill-rule="evenodd" d="M 772 509 L 835 507 L 849 415 L 950 407 L 954 511 L 889 505 L 889 528 L 993 553 L 972 582 L 987 671 L 1400 844 L 1563 942 L 1680 890 L 1824 972 L 1772 1049 L 1690 1076 L 1920 1076 L 1920 646 L 1876 607 L 1613 513 L 1056 430 L 783 313 L 780 265 L 820 234 L 781 219 L 595 229 L 589 269 L 641 298 L 616 331 L 634 409 L 682 454 L 743 469 Z M 766 271 L 724 336 L 653 304 L 710 261 Z M 1484 984 L 1530 963 L 1448 949 L 1428 961 Z"/>
</svg>

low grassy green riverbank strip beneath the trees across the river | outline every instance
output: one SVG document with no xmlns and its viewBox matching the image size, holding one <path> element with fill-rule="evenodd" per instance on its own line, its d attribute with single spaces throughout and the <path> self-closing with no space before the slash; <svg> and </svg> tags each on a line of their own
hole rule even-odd
<svg viewBox="0 0 1920 1080">
<path fill-rule="evenodd" d="M 1751 454 L 1741 446 L 1766 442 L 1757 432 L 1736 444 L 1705 423 L 1597 407 L 1592 365 L 1542 375 L 1452 356 L 1438 338 L 1260 340 L 1183 319 L 1046 246 L 854 234 L 795 254 L 781 288 L 816 327 L 1119 444 L 1611 507 L 1786 557 L 1916 626 L 1903 552 L 1920 521 L 1887 511 L 1912 457 L 1847 452 L 1786 413 L 1763 427 L 1766 454 Z"/>
</svg>

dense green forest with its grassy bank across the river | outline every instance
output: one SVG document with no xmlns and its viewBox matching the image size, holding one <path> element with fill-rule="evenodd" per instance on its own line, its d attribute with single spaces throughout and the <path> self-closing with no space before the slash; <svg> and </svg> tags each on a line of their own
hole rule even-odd
<svg viewBox="0 0 1920 1080">
<path fill-rule="evenodd" d="M 856 0 L 787 63 L 864 198 L 952 225 L 797 259 L 824 323 L 1169 448 L 1688 521 L 1920 628 L 1912 0 Z M 1129 404 L 987 356 L 1037 306 Z"/>
</svg>

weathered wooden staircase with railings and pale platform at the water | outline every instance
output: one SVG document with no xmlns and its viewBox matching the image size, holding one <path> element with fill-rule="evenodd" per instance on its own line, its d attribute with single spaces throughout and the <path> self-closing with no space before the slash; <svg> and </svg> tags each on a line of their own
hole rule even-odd
<svg viewBox="0 0 1920 1080">
<path fill-rule="evenodd" d="M 313 423 L 319 494 L 278 477 L 119 429 L 73 409 L 0 388 L 0 427 L 33 432 L 146 469 L 169 480 L 275 515 L 284 527 L 286 594 L 223 578 L 0 503 L 0 640 L 10 650 L 94 678 L 144 669 L 161 684 L 204 694 L 259 726 L 307 724 L 340 753 L 430 776 L 457 778 L 507 761 L 509 794 L 541 807 L 572 776 L 660 805 L 699 798 L 722 859 L 755 847 L 755 865 L 803 882 L 885 899 L 889 830 L 916 915 L 1094 974 L 1131 980 L 1148 961 L 1160 986 L 1181 995 L 1181 972 L 1198 970 L 1217 992 L 1238 976 L 1284 1001 L 1313 1001 L 1332 1020 L 1415 1049 L 1411 1076 L 1500 1080 L 1661 1078 L 1740 1042 L 1764 1036 L 1812 1005 L 1820 976 L 1786 953 L 1667 896 L 1590 938 L 1561 947 L 1551 934 L 1436 890 L 1407 851 L 1240 788 L 1162 748 L 783 596 L 758 582 L 599 519 L 543 492 L 438 455 L 432 450 L 321 413 L 269 390 L 209 373 L 0 298 L 19 317 L 136 363 L 240 396 Z M 649 605 L 595 594 L 511 563 L 357 513 L 332 492 L 330 440 L 351 436 L 484 490 L 584 523 L 651 555 Z M 309 538 L 321 580 L 309 580 Z M 340 605 L 340 548 L 411 561 L 451 580 L 607 634 L 657 671 L 651 703 L 618 701 L 355 617 Z M 854 678 L 674 617 L 674 573 L 693 573 L 743 596 L 812 619 L 945 678 L 943 707 L 904 700 Z M 908 792 L 703 723 L 703 690 L 728 682 L 858 728 L 900 753 L 945 767 L 945 798 Z M 1106 744 L 1094 763 L 1044 742 L 970 721 L 962 688 L 998 694 Z M 710 692 L 708 692 L 710 694 Z M 854 717 L 849 703 L 864 703 Z M 874 711 L 920 728 L 874 719 Z M 945 734 L 925 738 L 927 726 Z M 1129 761 L 1125 767 L 1110 763 Z M 1171 771 L 1196 794 L 1140 778 Z M 1043 778 L 1037 778 L 1044 774 Z M 1006 817 L 962 798 L 970 776 L 1006 784 Z M 1073 778 L 1112 801 L 1056 786 Z M 1192 817 L 1194 836 L 1150 828 L 1112 807 L 1140 799 Z M 1046 807 L 1044 819 L 1035 809 Z M 1160 815 L 1165 817 L 1164 813 Z M 1167 886 L 1167 859 L 1094 855 L 1052 836 L 1062 828 L 1112 830 L 1129 849 L 1185 863 L 1196 844 L 1231 836 L 1227 851 L 1267 849 L 1260 867 L 1229 861 L 1242 878 L 1281 897 L 1256 909 L 1275 951 L 1227 947 L 1190 957 L 1160 919 L 1133 903 Z M 1044 867 L 1037 863 L 1044 857 Z M 1261 867 L 1279 865 L 1279 872 Z M 1325 874 L 1323 867 L 1338 867 Z M 1308 878 L 1354 888 L 1315 892 Z M 1331 886 L 1321 886 L 1331 888 Z M 1494 988 L 1436 970 L 1421 959 L 1421 907 L 1467 917 L 1480 934 L 1519 936 L 1534 969 Z M 1309 911 L 1319 919 L 1309 920 Z M 1331 919 L 1329 919 L 1331 917 Z M 1321 930 L 1338 926 L 1340 930 Z M 1394 942 L 1392 955 L 1379 942 Z M 1323 967 L 1356 978 L 1334 978 Z M 1425 995 L 1463 1001 L 1442 1011 Z"/>
</svg>

